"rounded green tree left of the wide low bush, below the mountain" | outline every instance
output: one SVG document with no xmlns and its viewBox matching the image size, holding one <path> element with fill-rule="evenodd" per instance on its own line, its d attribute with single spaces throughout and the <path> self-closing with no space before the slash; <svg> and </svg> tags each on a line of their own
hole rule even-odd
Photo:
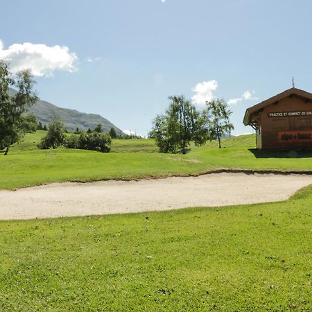
<svg viewBox="0 0 312 312">
<path fill-rule="evenodd" d="M 59 119 L 53 119 L 48 126 L 48 133 L 42 138 L 40 148 L 58 148 L 64 145 L 65 127 L 64 123 Z"/>
</svg>

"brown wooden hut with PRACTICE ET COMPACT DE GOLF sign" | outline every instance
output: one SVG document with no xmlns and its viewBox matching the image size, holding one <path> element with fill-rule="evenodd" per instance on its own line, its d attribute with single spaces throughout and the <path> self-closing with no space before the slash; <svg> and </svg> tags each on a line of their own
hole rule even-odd
<svg viewBox="0 0 312 312">
<path fill-rule="evenodd" d="M 243 123 L 256 131 L 259 149 L 311 149 L 312 94 L 288 89 L 249 107 Z"/>
</svg>

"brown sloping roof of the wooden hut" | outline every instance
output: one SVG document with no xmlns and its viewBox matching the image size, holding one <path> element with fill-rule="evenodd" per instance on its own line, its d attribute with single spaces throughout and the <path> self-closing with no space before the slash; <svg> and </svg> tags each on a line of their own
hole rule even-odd
<svg viewBox="0 0 312 312">
<path fill-rule="evenodd" d="M 309 92 L 305 92 L 304 90 L 297 89 L 297 88 L 291 88 L 284 92 L 281 92 L 277 94 L 276 96 L 272 96 L 272 98 L 268 98 L 268 100 L 263 101 L 259 104 L 256 104 L 252 107 L 249 107 L 244 116 L 243 123 L 244 125 L 249 125 L 252 123 L 252 116 L 254 114 L 257 114 L 259 110 L 262 110 L 264 107 L 276 103 L 277 101 L 280 101 L 283 98 L 286 98 L 287 96 L 298 96 L 300 98 L 304 98 L 306 100 L 312 101 L 312 94 Z"/>
</svg>

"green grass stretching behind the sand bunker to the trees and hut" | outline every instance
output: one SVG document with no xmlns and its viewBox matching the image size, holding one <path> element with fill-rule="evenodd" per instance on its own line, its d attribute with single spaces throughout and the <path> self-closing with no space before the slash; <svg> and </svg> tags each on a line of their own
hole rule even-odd
<svg viewBox="0 0 312 312">
<path fill-rule="evenodd" d="M 312 152 L 255 153 L 254 136 L 247 135 L 191 146 L 187 155 L 156 153 L 153 139 L 114 140 L 111 153 L 89 150 L 40 150 L 44 135 L 28 134 L 0 156 L 0 189 L 64 181 L 131 180 L 142 177 L 199 174 L 223 169 L 311 171 Z"/>
</svg>

